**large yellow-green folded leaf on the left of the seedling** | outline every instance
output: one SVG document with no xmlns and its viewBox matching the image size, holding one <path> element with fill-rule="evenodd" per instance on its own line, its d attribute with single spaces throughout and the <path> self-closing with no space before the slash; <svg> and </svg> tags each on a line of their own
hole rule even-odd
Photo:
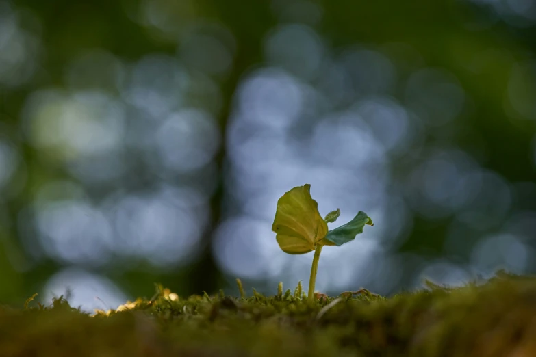
<svg viewBox="0 0 536 357">
<path fill-rule="evenodd" d="M 272 230 L 285 253 L 305 254 L 315 250 L 328 231 L 310 189 L 309 184 L 294 187 L 277 201 Z"/>
</svg>

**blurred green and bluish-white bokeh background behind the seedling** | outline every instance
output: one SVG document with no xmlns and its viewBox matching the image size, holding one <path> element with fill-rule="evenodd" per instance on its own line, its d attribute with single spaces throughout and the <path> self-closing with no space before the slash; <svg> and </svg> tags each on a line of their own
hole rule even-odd
<svg viewBox="0 0 536 357">
<path fill-rule="evenodd" d="M 536 272 L 536 0 L 0 0 L 0 303 Z"/>
</svg>

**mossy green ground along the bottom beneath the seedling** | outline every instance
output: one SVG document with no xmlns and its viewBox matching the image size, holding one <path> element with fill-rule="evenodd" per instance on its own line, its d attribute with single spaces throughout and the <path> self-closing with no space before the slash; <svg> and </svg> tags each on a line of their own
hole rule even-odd
<svg viewBox="0 0 536 357">
<path fill-rule="evenodd" d="M 0 308 L 0 356 L 536 356 L 536 278 L 500 274 L 483 285 L 379 297 L 303 292 L 149 300 L 81 313 Z"/>
</svg>

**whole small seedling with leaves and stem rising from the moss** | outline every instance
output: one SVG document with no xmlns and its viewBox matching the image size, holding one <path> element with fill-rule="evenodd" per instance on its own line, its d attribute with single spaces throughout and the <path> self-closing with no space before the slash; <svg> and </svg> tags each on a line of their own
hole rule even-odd
<svg viewBox="0 0 536 357">
<path fill-rule="evenodd" d="M 374 226 L 365 212 L 359 211 L 350 222 L 328 230 L 327 224 L 335 222 L 340 209 L 331 211 L 322 219 L 318 212 L 318 203 L 311 198 L 311 185 L 294 187 L 277 201 L 272 230 L 283 252 L 288 254 L 305 254 L 314 251 L 311 277 L 309 278 L 308 300 L 314 300 L 314 285 L 318 261 L 323 246 L 342 246 L 353 241 L 355 236 L 363 233 L 363 227 Z"/>
</svg>

